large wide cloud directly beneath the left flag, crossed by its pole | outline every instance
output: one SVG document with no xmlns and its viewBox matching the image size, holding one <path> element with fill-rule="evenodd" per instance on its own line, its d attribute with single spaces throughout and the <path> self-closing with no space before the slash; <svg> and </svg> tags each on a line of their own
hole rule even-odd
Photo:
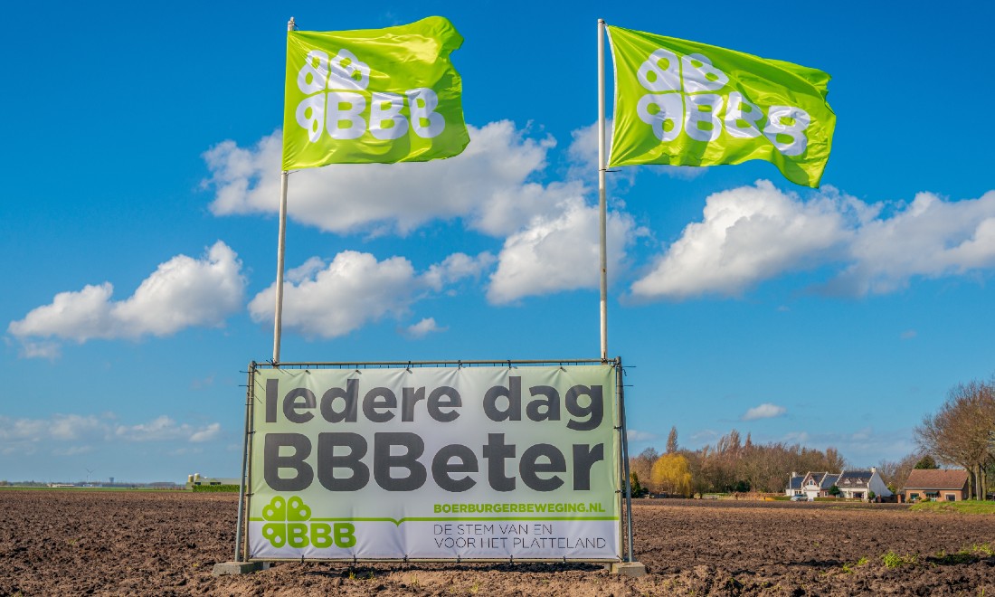
<svg viewBox="0 0 995 597">
<path fill-rule="evenodd" d="M 510 121 L 468 126 L 471 143 L 444 160 L 398 164 L 332 164 L 291 174 L 288 217 L 336 233 L 405 235 L 434 219 L 466 218 L 470 228 L 510 234 L 582 188 L 548 186 L 529 178 L 546 165 L 555 145 L 526 138 Z M 204 154 L 215 190 L 216 215 L 275 213 L 280 196 L 280 130 L 252 148 L 228 140 Z"/>
</svg>

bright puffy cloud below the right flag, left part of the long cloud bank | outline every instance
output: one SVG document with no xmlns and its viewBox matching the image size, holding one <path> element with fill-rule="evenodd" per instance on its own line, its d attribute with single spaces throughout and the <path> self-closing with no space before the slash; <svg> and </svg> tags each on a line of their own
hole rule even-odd
<svg viewBox="0 0 995 597">
<path fill-rule="evenodd" d="M 710 195 L 703 221 L 689 224 L 653 270 L 632 285 L 636 298 L 736 296 L 784 272 L 827 260 L 850 235 L 847 202 L 803 203 L 761 180 Z"/>
</svg>

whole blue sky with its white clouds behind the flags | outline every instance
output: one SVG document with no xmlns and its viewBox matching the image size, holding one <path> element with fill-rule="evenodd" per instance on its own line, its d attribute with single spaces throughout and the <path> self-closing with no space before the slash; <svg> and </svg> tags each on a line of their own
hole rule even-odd
<svg viewBox="0 0 995 597">
<path fill-rule="evenodd" d="M 244 371 L 272 356 L 291 16 L 449 18 L 472 140 L 292 174 L 289 293 L 311 292 L 283 360 L 598 356 L 604 18 L 826 71 L 837 114 L 817 190 L 766 162 L 610 175 L 632 452 L 735 428 L 872 466 L 995 374 L 989 4 L 340 6 L 5 11 L 0 479 L 236 475 Z"/>
</svg>

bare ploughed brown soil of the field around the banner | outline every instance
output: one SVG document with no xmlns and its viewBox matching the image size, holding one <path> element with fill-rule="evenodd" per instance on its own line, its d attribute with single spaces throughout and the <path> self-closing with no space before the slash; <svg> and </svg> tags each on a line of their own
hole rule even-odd
<svg viewBox="0 0 995 597">
<path fill-rule="evenodd" d="M 590 564 L 281 563 L 234 556 L 237 497 L 2 491 L 0 595 L 995 595 L 995 515 L 891 504 L 641 499 L 633 579 Z M 889 567 L 886 553 L 906 556 Z"/>
</svg>

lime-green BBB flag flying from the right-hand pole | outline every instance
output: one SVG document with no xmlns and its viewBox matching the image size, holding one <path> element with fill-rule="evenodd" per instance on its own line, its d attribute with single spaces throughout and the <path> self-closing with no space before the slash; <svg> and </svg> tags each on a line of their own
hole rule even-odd
<svg viewBox="0 0 995 597">
<path fill-rule="evenodd" d="M 822 71 L 609 27 L 615 130 L 609 166 L 773 162 L 818 187 L 836 114 Z"/>
</svg>

